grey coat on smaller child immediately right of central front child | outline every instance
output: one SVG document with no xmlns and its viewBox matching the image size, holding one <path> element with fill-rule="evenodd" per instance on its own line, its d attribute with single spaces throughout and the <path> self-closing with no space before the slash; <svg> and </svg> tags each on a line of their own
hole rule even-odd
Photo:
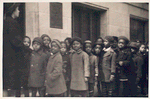
<svg viewBox="0 0 150 99">
<path fill-rule="evenodd" d="M 98 75 L 98 60 L 97 56 L 91 55 L 89 56 L 90 61 L 90 77 L 89 77 L 89 83 L 95 84 L 95 75 Z"/>
</svg>

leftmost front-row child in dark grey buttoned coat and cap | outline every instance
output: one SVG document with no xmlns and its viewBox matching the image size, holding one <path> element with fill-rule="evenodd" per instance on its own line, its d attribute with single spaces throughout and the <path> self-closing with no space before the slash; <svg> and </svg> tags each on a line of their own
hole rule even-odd
<svg viewBox="0 0 150 99">
<path fill-rule="evenodd" d="M 36 97 L 39 91 L 40 97 L 45 95 L 44 82 L 45 82 L 45 69 L 47 65 L 47 55 L 43 52 L 43 41 L 40 37 L 34 38 L 32 42 L 33 52 L 30 58 L 30 71 L 29 71 L 29 87 L 31 87 L 32 97 Z"/>
</svg>

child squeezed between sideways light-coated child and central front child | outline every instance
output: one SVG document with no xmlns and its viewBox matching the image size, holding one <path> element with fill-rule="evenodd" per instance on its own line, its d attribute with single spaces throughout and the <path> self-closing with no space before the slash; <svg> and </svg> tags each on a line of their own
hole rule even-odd
<svg viewBox="0 0 150 99">
<path fill-rule="evenodd" d="M 70 76 L 71 76 L 71 67 L 70 67 L 70 58 L 69 54 L 67 53 L 67 45 L 65 42 L 61 42 L 61 55 L 63 59 L 63 74 L 66 81 L 67 86 L 67 96 L 69 96 L 70 93 Z"/>
</svg>

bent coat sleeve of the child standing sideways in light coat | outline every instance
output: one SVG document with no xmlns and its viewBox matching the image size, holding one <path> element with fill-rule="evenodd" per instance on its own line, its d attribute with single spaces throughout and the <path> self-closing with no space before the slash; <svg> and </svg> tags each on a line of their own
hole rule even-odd
<svg viewBox="0 0 150 99">
<path fill-rule="evenodd" d="M 51 80 L 55 80 L 56 78 L 58 78 L 61 74 L 62 74 L 62 59 L 57 59 L 56 63 L 54 64 L 54 68 L 52 73 L 50 73 L 50 78 Z"/>
</svg>

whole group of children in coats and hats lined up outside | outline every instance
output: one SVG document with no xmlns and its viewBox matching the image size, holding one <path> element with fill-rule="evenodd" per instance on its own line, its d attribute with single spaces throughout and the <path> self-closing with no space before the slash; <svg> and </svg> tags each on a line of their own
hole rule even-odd
<svg viewBox="0 0 150 99">
<path fill-rule="evenodd" d="M 66 38 L 60 42 L 43 34 L 23 40 L 24 94 L 41 97 L 136 96 L 137 88 L 146 94 L 148 46 L 130 42 L 125 36 L 99 37 L 96 42 Z M 146 50 L 147 49 L 147 50 Z"/>
</svg>

